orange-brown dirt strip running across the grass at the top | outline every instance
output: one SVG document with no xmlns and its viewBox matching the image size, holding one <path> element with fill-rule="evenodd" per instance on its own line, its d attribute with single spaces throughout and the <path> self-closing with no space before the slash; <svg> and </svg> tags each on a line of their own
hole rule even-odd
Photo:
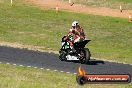
<svg viewBox="0 0 132 88">
<path fill-rule="evenodd" d="M 124 10 L 122 13 L 118 9 L 110 9 L 105 7 L 88 7 L 83 5 L 74 4 L 71 6 L 69 3 L 57 1 L 57 0 L 25 0 L 28 3 L 31 3 L 36 6 L 40 6 L 43 8 L 55 8 L 56 6 L 59 9 L 69 10 L 73 12 L 79 13 L 87 13 L 93 15 L 101 15 L 101 16 L 111 16 L 111 17 L 120 17 L 120 18 L 128 18 L 129 13 L 132 13 L 131 10 Z"/>
</svg>

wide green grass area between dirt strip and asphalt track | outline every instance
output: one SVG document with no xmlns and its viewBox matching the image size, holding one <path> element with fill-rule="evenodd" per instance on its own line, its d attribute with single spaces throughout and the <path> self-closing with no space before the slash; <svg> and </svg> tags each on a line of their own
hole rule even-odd
<svg viewBox="0 0 132 88">
<path fill-rule="evenodd" d="M 93 57 L 132 63 L 132 23 L 127 19 L 103 17 L 39 9 L 14 0 L 0 1 L 0 41 L 42 46 L 42 49 L 59 50 L 61 38 L 69 31 L 73 20 L 83 26 L 86 46 Z"/>
</svg>

